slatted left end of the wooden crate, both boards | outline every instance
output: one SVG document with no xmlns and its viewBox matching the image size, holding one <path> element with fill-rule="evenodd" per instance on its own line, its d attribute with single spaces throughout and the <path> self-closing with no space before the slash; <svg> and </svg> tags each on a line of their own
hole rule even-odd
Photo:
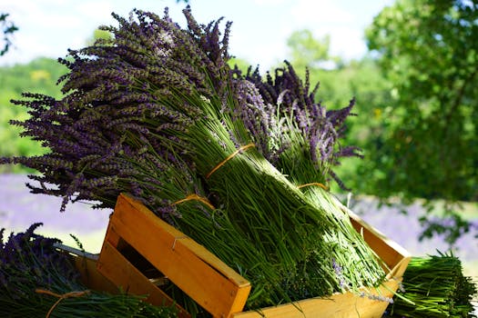
<svg viewBox="0 0 478 318">
<path fill-rule="evenodd" d="M 132 251 L 132 252 L 131 252 Z M 127 253 L 132 253 L 129 257 Z M 142 262 L 136 262 L 137 259 Z M 97 270 L 128 293 L 154 292 L 158 300 L 172 300 L 145 269 L 152 265 L 214 317 L 242 311 L 250 283 L 206 248 L 166 224 L 143 204 L 120 194 L 111 215 Z M 139 268 L 139 270 L 138 270 Z"/>
</svg>

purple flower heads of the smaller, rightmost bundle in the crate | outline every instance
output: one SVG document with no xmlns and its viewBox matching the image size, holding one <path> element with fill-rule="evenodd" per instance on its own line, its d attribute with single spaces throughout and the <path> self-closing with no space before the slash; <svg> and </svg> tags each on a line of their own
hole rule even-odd
<svg viewBox="0 0 478 318">
<path fill-rule="evenodd" d="M 305 82 L 302 82 L 287 62 L 286 67 L 275 70 L 274 77 L 268 73 L 262 79 L 258 69 L 254 72 L 249 69 L 247 75 L 235 69 L 234 74 L 255 85 L 239 90 L 245 100 L 241 103 L 244 106 L 239 108 L 239 117 L 246 123 L 256 143 L 260 144 L 261 153 L 281 167 L 280 154 L 290 149 L 290 140 L 300 143 L 303 139 L 302 146 L 309 150 L 309 155 L 303 158 L 312 161 L 312 168 L 318 173 L 315 180 L 323 180 L 329 175 L 346 189 L 331 166 L 340 164 L 341 157 L 361 156 L 358 147 L 343 147 L 340 142 L 346 127 L 345 119 L 351 115 L 355 101 L 352 99 L 347 107 L 340 110 L 327 111 L 322 104 L 315 102 L 319 84 L 310 88 L 309 72 L 306 72 Z M 288 120 L 290 118 L 292 121 Z M 271 127 L 271 134 L 264 132 L 263 127 Z"/>
</svg>

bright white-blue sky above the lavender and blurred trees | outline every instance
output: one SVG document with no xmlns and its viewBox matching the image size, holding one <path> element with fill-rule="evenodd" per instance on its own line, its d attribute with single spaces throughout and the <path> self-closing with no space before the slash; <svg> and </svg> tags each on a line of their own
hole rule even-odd
<svg viewBox="0 0 478 318">
<path fill-rule="evenodd" d="M 289 56 L 287 38 L 309 29 L 316 38 L 331 35 L 331 54 L 347 60 L 367 52 L 364 29 L 392 0 L 189 0 L 201 24 L 223 16 L 232 21 L 229 53 L 251 65 L 270 68 Z M 12 49 L 0 65 L 26 63 L 37 56 L 64 57 L 81 48 L 98 25 L 117 25 L 111 13 L 127 17 L 131 9 L 162 15 L 164 8 L 184 25 L 184 2 L 176 0 L 0 0 L 18 26 Z M 224 26 L 224 24 L 223 24 Z"/>
</svg>

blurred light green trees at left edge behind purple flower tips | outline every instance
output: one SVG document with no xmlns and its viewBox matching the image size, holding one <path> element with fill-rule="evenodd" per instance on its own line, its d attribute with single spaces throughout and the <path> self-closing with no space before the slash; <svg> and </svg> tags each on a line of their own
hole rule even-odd
<svg viewBox="0 0 478 318">
<path fill-rule="evenodd" d="M 61 96 L 56 85 L 59 76 L 66 73 L 66 67 L 56 60 L 38 58 L 27 65 L 5 66 L 0 68 L 0 156 L 45 154 L 47 149 L 29 138 L 19 136 L 21 129 L 10 120 L 25 120 L 25 108 L 10 103 L 19 99 L 27 91 L 52 96 Z M 20 166 L 2 165 L 0 172 L 25 172 Z"/>
</svg>

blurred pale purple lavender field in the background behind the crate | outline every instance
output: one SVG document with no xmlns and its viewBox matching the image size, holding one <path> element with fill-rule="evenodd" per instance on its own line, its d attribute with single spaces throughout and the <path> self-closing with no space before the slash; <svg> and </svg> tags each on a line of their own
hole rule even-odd
<svg viewBox="0 0 478 318">
<path fill-rule="evenodd" d="M 60 213 L 61 199 L 30 194 L 25 187 L 28 179 L 22 174 L 0 174 L 0 227 L 9 232 L 24 231 L 30 224 L 44 224 L 38 233 L 55 236 L 66 244 L 75 245 L 69 234 L 74 234 L 90 253 L 99 253 L 106 233 L 110 210 L 94 210 L 90 204 L 69 204 L 65 213 Z M 472 206 L 472 210 L 475 206 Z M 378 207 L 376 200 L 361 198 L 352 201 L 351 209 L 369 224 L 390 239 L 399 243 L 412 255 L 447 252 L 449 247 L 440 237 L 419 242 L 421 232 L 417 215 L 420 204 L 407 207 L 402 214 L 399 207 Z M 478 211 L 470 211 L 478 219 Z M 478 239 L 473 234 L 463 235 L 453 253 L 463 262 L 464 273 L 478 280 Z"/>
</svg>

